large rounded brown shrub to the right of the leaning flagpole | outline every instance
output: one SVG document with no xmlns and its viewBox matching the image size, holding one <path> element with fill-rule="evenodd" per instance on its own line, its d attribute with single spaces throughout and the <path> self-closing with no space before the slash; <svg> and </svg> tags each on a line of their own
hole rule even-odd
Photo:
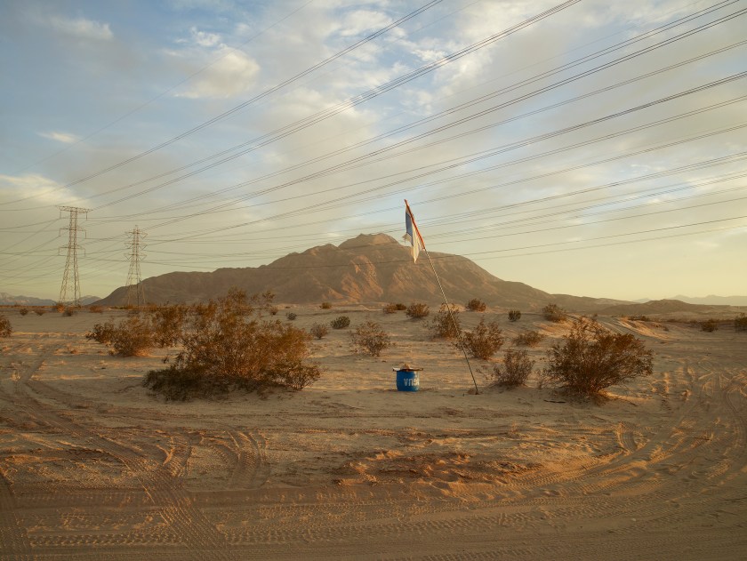
<svg viewBox="0 0 747 561">
<path fill-rule="evenodd" d="M 580 317 L 548 351 L 543 378 L 571 393 L 596 396 L 609 386 L 651 374 L 653 363 L 652 352 L 631 333 L 611 333 Z"/>
</svg>

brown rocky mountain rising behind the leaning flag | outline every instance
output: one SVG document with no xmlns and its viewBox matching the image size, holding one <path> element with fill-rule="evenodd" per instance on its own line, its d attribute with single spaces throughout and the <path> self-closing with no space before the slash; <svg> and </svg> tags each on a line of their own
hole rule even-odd
<svg viewBox="0 0 747 561">
<path fill-rule="evenodd" d="M 497 278 L 460 255 L 430 252 L 430 257 L 446 296 L 455 303 L 479 298 L 493 307 L 530 310 L 555 302 L 582 312 L 628 303 L 544 293 Z M 173 272 L 150 277 L 142 285 L 146 300 L 153 303 L 205 301 L 233 286 L 249 294 L 272 291 L 281 303 L 443 301 L 428 258 L 421 255 L 414 263 L 406 245 L 384 234 L 362 234 L 339 246 L 319 245 L 257 268 Z M 99 303 L 121 306 L 126 300 L 122 286 Z"/>
</svg>

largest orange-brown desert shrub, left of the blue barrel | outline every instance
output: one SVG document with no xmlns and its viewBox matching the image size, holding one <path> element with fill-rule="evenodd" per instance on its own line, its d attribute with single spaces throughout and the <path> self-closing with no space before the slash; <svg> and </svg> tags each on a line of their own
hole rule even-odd
<svg viewBox="0 0 747 561">
<path fill-rule="evenodd" d="M 167 399 L 187 399 L 231 389 L 303 389 L 316 381 L 318 366 L 305 362 L 309 333 L 278 320 L 260 321 L 266 308 L 260 302 L 232 289 L 217 301 L 189 306 L 181 326 L 183 349 L 143 384 Z"/>
</svg>

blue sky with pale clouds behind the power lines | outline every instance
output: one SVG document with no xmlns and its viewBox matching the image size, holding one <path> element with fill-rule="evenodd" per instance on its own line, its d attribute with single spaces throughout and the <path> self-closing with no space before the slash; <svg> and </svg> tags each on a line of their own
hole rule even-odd
<svg viewBox="0 0 747 561">
<path fill-rule="evenodd" d="M 400 239 L 407 199 L 429 252 L 549 293 L 743 294 L 745 12 L 3 2 L 0 292 Z"/>
</svg>

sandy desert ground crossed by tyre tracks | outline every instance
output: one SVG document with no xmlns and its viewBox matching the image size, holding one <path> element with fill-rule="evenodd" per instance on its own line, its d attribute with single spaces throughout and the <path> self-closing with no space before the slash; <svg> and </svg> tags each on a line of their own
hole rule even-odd
<svg viewBox="0 0 747 561">
<path fill-rule="evenodd" d="M 312 341 L 300 392 L 166 403 L 141 379 L 166 351 L 112 357 L 84 333 L 122 310 L 21 316 L 0 340 L 0 559 L 743 559 L 747 333 L 600 317 L 655 352 L 655 373 L 594 403 L 488 388 L 489 365 L 377 306 L 347 315 L 396 346 Z M 463 312 L 566 333 L 537 314 Z M 499 353 L 500 357 L 501 353 Z M 421 366 L 398 392 L 393 367 Z M 483 373 L 480 373 L 482 371 Z"/>
</svg>

